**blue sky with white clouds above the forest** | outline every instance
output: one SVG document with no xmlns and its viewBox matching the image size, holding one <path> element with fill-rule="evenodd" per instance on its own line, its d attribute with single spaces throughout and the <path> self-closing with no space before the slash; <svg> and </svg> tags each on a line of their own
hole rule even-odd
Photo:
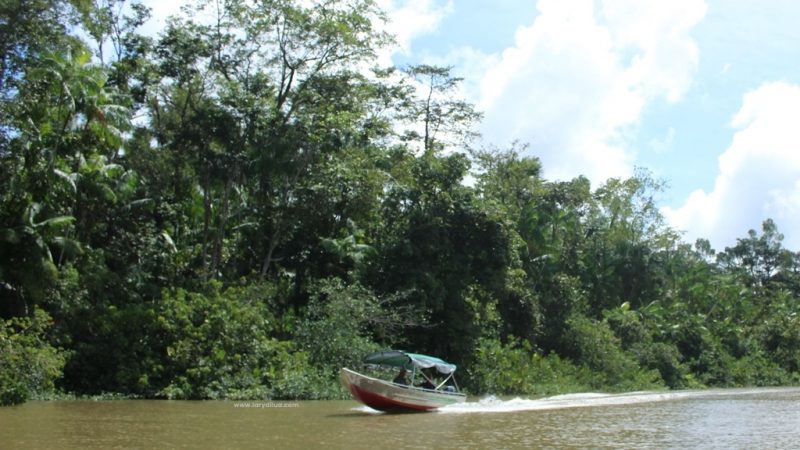
<svg viewBox="0 0 800 450">
<path fill-rule="evenodd" d="M 723 250 L 772 218 L 800 250 L 800 2 L 377 2 L 397 36 L 381 61 L 453 66 L 486 145 L 595 188 L 647 169 L 688 243 Z"/>
</svg>

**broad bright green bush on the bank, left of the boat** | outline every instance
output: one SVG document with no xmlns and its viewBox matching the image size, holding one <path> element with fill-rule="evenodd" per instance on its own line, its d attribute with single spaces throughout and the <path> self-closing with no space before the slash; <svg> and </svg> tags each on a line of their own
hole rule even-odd
<svg viewBox="0 0 800 450">
<path fill-rule="evenodd" d="M 293 347 L 275 339 L 269 286 L 165 295 L 158 317 L 165 335 L 168 398 L 265 398 L 271 371 Z"/>
</svg>

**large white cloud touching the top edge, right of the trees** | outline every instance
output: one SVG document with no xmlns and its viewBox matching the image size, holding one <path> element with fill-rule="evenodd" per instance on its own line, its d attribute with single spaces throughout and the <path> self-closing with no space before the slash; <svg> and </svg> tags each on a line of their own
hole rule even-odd
<svg viewBox="0 0 800 450">
<path fill-rule="evenodd" d="M 489 142 L 521 140 L 549 178 L 630 175 L 627 133 L 649 102 L 675 102 L 698 63 L 703 0 L 540 0 L 534 23 L 482 77 Z"/>
</svg>

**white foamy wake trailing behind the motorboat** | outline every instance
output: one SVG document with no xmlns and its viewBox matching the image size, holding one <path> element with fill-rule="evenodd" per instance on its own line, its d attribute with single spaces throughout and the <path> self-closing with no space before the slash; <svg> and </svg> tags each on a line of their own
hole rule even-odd
<svg viewBox="0 0 800 450">
<path fill-rule="evenodd" d="M 776 391 L 780 391 L 778 388 Z M 514 398 L 503 400 L 494 396 L 477 402 L 448 405 L 439 409 L 444 414 L 499 413 L 516 411 L 541 411 L 564 408 L 587 408 L 593 406 L 633 405 L 637 403 L 665 402 L 711 397 L 741 397 L 768 393 L 768 389 L 712 389 L 703 391 L 647 391 L 624 394 L 582 393 L 556 395 L 541 399 Z"/>
</svg>

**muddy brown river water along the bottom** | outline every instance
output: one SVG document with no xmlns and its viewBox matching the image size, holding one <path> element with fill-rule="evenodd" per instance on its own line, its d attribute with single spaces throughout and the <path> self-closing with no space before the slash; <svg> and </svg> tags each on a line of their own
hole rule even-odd
<svg viewBox="0 0 800 450">
<path fill-rule="evenodd" d="M 797 449 L 800 388 L 471 398 L 434 413 L 354 401 L 53 401 L 0 408 L 0 449 Z"/>
</svg>

